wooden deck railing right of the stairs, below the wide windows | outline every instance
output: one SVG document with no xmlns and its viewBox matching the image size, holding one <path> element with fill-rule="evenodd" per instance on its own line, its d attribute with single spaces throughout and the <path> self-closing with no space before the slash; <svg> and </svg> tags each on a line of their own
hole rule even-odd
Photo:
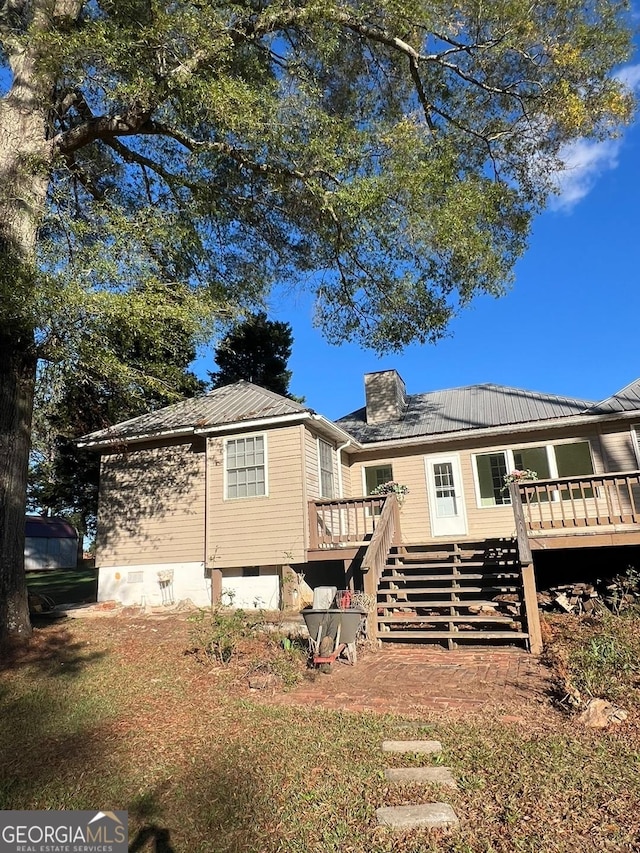
<svg viewBox="0 0 640 853">
<path fill-rule="evenodd" d="M 512 484 L 528 532 L 640 524 L 640 471 Z"/>
</svg>

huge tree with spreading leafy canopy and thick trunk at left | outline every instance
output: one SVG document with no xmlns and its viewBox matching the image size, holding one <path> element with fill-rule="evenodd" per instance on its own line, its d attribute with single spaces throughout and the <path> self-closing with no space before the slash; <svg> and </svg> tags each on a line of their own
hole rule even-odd
<svg viewBox="0 0 640 853">
<path fill-rule="evenodd" d="M 563 147 L 632 104 L 616 0 L 2 0 L 0 623 L 29 632 L 34 377 L 101 317 L 194 336 L 313 287 L 331 340 L 500 294 Z M 135 285 L 135 288 L 132 286 Z M 126 370 L 127 366 L 124 365 Z"/>
</svg>

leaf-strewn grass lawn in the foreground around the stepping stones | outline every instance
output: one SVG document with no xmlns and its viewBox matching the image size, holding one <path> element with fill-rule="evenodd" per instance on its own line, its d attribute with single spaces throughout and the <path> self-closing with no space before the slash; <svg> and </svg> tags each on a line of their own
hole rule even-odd
<svg viewBox="0 0 640 853">
<path fill-rule="evenodd" d="M 272 706 L 186 653 L 184 616 L 68 620 L 0 672 L 0 808 L 127 809 L 131 851 L 638 851 L 640 728 L 552 707 L 419 719 Z M 244 667 L 244 668 L 243 668 Z M 326 676 L 319 676 L 325 678 Z M 443 742 L 459 790 L 390 787 L 385 738 Z M 444 800 L 459 831 L 394 833 L 382 805 Z"/>
</svg>

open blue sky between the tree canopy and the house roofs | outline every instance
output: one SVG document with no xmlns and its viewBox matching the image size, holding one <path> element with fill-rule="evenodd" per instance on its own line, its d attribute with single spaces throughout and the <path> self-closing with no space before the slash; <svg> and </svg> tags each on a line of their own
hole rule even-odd
<svg viewBox="0 0 640 853">
<path fill-rule="evenodd" d="M 640 92 L 640 61 L 626 69 Z M 364 373 L 395 368 L 410 394 L 481 382 L 600 400 L 640 376 L 640 116 L 616 141 L 567 152 L 561 194 L 534 223 L 516 281 L 480 298 L 451 337 L 378 357 L 329 346 L 309 298 L 287 294 L 269 316 L 291 323 L 291 390 L 338 418 L 364 404 Z M 212 356 L 198 366 L 211 369 Z"/>
</svg>

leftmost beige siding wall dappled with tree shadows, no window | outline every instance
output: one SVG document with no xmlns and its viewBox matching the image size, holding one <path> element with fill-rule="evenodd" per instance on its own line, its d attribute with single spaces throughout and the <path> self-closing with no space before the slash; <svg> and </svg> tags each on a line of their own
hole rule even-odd
<svg viewBox="0 0 640 853">
<path fill-rule="evenodd" d="M 102 458 L 96 564 L 137 566 L 204 558 L 204 442 Z"/>
</svg>

